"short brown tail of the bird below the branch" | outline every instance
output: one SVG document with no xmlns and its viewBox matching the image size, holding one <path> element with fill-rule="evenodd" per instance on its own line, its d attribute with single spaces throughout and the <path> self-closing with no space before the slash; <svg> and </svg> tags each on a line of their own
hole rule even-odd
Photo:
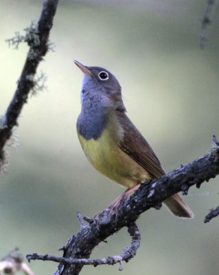
<svg viewBox="0 0 219 275">
<path fill-rule="evenodd" d="M 192 210 L 177 194 L 172 195 L 168 199 L 165 199 L 164 203 L 165 206 L 169 208 L 170 212 L 172 212 L 172 214 L 176 215 L 177 217 L 189 219 L 194 217 Z"/>
</svg>

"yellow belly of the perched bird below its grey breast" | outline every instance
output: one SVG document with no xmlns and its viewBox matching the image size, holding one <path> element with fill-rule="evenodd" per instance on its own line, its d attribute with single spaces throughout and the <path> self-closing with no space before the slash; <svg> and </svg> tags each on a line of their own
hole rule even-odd
<svg viewBox="0 0 219 275">
<path fill-rule="evenodd" d="M 89 162 L 113 181 L 131 188 L 151 179 L 146 170 L 119 148 L 111 128 L 104 130 L 97 140 L 85 140 L 79 133 L 78 138 Z"/>
</svg>

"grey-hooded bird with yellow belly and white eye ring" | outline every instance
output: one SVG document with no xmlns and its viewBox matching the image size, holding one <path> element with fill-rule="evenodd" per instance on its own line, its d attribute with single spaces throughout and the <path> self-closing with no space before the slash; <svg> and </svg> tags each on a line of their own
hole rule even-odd
<svg viewBox="0 0 219 275">
<path fill-rule="evenodd" d="M 125 186 L 129 194 L 141 183 L 165 175 L 161 163 L 140 131 L 126 115 L 119 81 L 108 69 L 74 63 L 82 71 L 78 139 L 91 165 Z M 192 218 L 192 210 L 178 194 L 163 201 L 172 214 Z"/>
</svg>

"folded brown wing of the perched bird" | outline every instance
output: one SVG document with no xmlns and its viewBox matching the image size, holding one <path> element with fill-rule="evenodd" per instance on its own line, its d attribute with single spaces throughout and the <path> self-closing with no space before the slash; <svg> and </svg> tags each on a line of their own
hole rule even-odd
<svg viewBox="0 0 219 275">
<path fill-rule="evenodd" d="M 152 177 L 161 177 L 165 172 L 154 151 L 130 121 L 126 113 L 117 111 L 119 124 L 124 129 L 124 138 L 120 148 L 141 165 Z"/>
</svg>

